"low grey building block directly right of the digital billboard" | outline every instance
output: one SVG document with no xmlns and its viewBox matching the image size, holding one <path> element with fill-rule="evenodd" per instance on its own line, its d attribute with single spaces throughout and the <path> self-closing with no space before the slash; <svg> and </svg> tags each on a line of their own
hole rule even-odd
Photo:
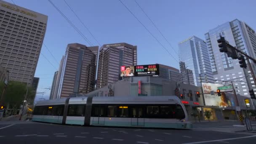
<svg viewBox="0 0 256 144">
<path fill-rule="evenodd" d="M 176 69 L 174 67 L 159 64 L 159 72 L 160 72 L 159 76 L 165 79 L 174 80 L 174 81 L 180 80 L 179 69 Z"/>
</svg>

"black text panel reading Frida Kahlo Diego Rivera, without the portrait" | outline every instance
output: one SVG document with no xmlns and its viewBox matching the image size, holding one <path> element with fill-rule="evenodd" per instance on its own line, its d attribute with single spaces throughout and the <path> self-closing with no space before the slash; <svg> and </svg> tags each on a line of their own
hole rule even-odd
<svg viewBox="0 0 256 144">
<path fill-rule="evenodd" d="M 159 75 L 159 64 L 134 66 L 134 76 L 157 76 Z"/>
</svg>

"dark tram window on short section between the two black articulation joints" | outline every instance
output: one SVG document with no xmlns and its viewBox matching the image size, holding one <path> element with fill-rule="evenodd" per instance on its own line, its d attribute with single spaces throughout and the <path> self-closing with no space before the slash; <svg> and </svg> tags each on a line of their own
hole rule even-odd
<svg viewBox="0 0 256 144">
<path fill-rule="evenodd" d="M 85 115 L 85 105 L 84 104 L 70 104 L 67 115 L 83 117 Z"/>
</svg>

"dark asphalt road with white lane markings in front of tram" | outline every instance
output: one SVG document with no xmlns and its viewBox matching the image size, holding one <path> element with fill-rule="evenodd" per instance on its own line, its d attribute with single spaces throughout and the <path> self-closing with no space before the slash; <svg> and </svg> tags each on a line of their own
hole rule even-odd
<svg viewBox="0 0 256 144">
<path fill-rule="evenodd" d="M 255 144 L 256 135 L 176 129 L 0 123 L 1 144 Z"/>
</svg>

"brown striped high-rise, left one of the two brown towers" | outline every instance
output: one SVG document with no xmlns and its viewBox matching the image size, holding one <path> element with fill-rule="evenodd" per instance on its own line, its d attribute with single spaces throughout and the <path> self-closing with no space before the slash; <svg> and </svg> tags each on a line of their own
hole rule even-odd
<svg viewBox="0 0 256 144">
<path fill-rule="evenodd" d="M 53 99 L 94 90 L 98 50 L 99 46 L 87 47 L 79 43 L 67 45 L 56 78 L 57 94 L 55 97 L 55 88 Z"/>
</svg>

